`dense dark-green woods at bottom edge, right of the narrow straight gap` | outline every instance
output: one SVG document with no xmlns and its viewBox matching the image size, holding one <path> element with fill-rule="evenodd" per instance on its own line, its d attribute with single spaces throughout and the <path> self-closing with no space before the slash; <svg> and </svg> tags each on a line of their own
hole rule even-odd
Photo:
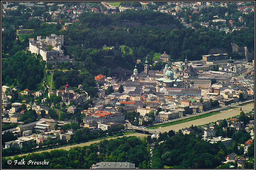
<svg viewBox="0 0 256 170">
<path fill-rule="evenodd" d="M 167 136 L 167 133 L 166 133 Z M 225 160 L 226 149 L 222 143 L 210 144 L 195 134 L 176 134 L 156 144 L 152 168 L 216 168 Z"/>
</svg>

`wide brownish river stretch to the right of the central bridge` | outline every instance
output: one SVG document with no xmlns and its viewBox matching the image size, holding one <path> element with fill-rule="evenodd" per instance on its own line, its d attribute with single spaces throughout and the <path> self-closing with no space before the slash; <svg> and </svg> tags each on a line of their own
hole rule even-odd
<svg viewBox="0 0 256 170">
<path fill-rule="evenodd" d="M 242 111 L 244 111 L 244 113 L 248 113 L 249 111 L 252 111 L 251 108 L 254 108 L 254 103 L 252 103 L 250 105 L 242 106 Z M 182 128 L 190 127 L 191 125 L 198 126 L 198 125 L 204 125 L 206 123 L 216 122 L 219 119 L 228 119 L 230 117 L 240 115 L 240 112 L 241 112 L 240 107 L 238 107 L 231 111 L 228 110 L 228 111 L 216 114 L 216 115 L 204 117 L 204 118 L 197 119 L 194 121 L 180 123 L 180 124 L 172 125 L 172 126 L 168 126 L 168 127 L 157 128 L 157 130 L 159 130 L 161 132 L 169 132 L 169 130 L 175 130 L 175 132 L 178 132 L 178 130 L 180 130 Z"/>
</svg>

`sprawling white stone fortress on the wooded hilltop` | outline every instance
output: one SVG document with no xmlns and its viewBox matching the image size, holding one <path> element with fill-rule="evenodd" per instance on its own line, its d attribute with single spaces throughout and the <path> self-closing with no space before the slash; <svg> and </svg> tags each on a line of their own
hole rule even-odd
<svg viewBox="0 0 256 170">
<path fill-rule="evenodd" d="M 37 36 L 36 40 L 34 38 L 30 38 L 29 40 L 29 51 L 31 53 L 40 54 L 43 57 L 43 60 L 46 63 L 52 63 L 52 65 L 56 65 L 57 63 L 62 62 L 71 62 L 72 65 L 75 64 L 74 59 L 70 59 L 69 55 L 63 55 L 62 46 L 64 44 L 64 36 L 56 36 L 56 34 L 51 34 L 50 37 L 46 37 L 46 39 L 42 39 L 41 36 Z M 52 50 L 47 48 L 47 45 L 52 45 Z"/>
</svg>

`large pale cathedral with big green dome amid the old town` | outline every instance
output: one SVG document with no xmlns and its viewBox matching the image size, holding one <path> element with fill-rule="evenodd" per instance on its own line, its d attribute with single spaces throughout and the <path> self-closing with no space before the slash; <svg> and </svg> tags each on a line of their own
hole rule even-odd
<svg viewBox="0 0 256 170">
<path fill-rule="evenodd" d="M 171 67 L 168 64 L 164 67 L 164 76 L 156 80 L 156 92 L 160 92 L 160 88 L 182 88 L 183 82 L 174 75 Z"/>
</svg>

